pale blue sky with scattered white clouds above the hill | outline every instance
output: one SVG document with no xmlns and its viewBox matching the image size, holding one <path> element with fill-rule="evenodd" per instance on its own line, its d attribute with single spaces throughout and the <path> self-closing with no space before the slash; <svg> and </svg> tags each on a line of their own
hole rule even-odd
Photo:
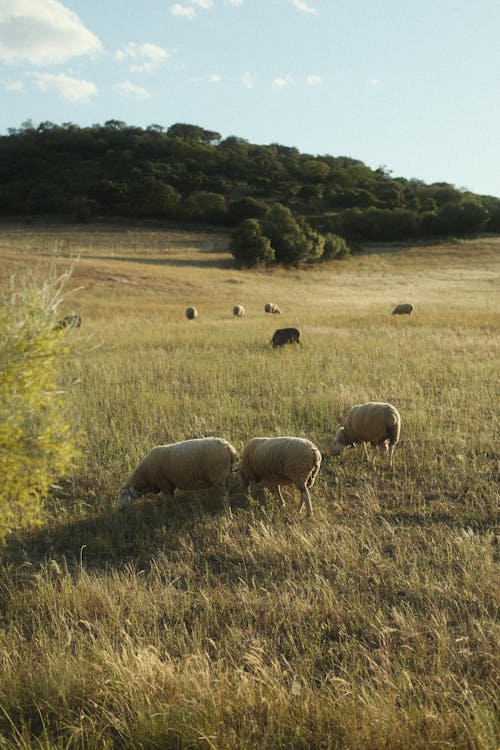
<svg viewBox="0 0 500 750">
<path fill-rule="evenodd" d="M 500 0 L 0 0 L 0 134 L 199 125 L 500 197 Z"/>
</svg>

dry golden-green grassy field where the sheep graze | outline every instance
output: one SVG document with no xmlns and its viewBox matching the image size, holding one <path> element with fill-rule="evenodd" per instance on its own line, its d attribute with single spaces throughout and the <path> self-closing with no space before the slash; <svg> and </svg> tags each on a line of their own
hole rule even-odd
<svg viewBox="0 0 500 750">
<path fill-rule="evenodd" d="M 226 247 L 0 228 L 2 284 L 74 266 L 83 443 L 45 524 L 2 554 L 0 747 L 496 750 L 500 239 L 308 271 L 238 271 Z M 273 351 L 278 326 L 302 348 Z M 331 456 L 365 400 L 401 412 L 394 476 Z M 116 511 L 155 444 L 280 434 L 323 454 L 312 519 L 296 490 L 283 510 L 236 476 L 231 513 L 210 491 Z"/>
</svg>

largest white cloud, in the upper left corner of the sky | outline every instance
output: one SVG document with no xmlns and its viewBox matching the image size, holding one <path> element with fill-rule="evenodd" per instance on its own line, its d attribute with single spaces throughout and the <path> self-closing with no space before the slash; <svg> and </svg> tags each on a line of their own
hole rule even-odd
<svg viewBox="0 0 500 750">
<path fill-rule="evenodd" d="M 1 0 L 0 60 L 64 63 L 102 49 L 99 39 L 58 0 Z"/>
</svg>

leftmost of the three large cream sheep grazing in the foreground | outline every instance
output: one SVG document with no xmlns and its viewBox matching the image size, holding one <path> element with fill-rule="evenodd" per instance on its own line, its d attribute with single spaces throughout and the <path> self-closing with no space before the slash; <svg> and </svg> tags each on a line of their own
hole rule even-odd
<svg viewBox="0 0 500 750">
<path fill-rule="evenodd" d="M 228 478 L 236 459 L 236 449 L 222 438 L 208 437 L 157 445 L 139 463 L 118 494 L 122 510 L 147 492 L 173 500 L 176 489 L 197 490 L 214 487 L 228 501 Z"/>
</svg>

